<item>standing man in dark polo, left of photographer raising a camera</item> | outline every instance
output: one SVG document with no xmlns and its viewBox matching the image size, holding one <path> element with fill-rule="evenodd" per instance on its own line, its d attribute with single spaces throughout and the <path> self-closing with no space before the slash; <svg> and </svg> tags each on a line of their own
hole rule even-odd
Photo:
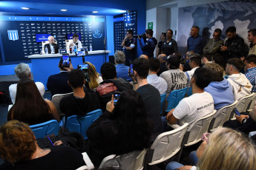
<svg viewBox="0 0 256 170">
<path fill-rule="evenodd" d="M 136 58 L 136 41 L 135 38 L 133 37 L 134 31 L 133 30 L 127 30 L 126 36 L 122 41 L 122 48 L 125 52 L 125 66 L 130 67 L 131 62 L 134 61 Z"/>
</svg>

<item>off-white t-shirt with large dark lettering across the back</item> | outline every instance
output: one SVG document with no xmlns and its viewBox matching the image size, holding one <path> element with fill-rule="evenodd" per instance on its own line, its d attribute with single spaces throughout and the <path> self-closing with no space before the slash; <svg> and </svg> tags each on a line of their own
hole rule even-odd
<svg viewBox="0 0 256 170">
<path fill-rule="evenodd" d="M 184 89 L 187 86 L 188 78 L 185 72 L 181 71 L 180 69 L 169 69 L 165 72 L 162 72 L 160 78 L 165 79 L 168 85 L 166 98 L 168 98 L 171 91 L 174 89 Z"/>
</svg>

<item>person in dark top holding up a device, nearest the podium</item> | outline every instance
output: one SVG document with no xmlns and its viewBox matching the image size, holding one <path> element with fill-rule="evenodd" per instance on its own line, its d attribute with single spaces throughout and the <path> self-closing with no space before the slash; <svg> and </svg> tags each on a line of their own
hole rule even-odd
<svg viewBox="0 0 256 170">
<path fill-rule="evenodd" d="M 47 89 L 50 90 L 51 97 L 56 94 L 65 94 L 72 92 L 70 86 L 68 86 L 68 72 L 73 69 L 71 59 L 69 58 L 69 67 L 63 67 L 63 59 L 59 60 L 60 72 L 56 75 L 50 75 L 47 80 Z"/>
</svg>

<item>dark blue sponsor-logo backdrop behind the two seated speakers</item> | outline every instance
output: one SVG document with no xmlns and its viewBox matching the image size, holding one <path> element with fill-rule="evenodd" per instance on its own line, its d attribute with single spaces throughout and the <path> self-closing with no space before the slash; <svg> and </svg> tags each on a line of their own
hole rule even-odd
<svg viewBox="0 0 256 170">
<path fill-rule="evenodd" d="M 77 33 L 82 47 L 104 49 L 105 16 L 52 17 L 0 16 L 0 47 L 6 63 L 26 61 L 29 55 L 42 54 L 42 41 L 53 35 L 60 49 L 65 49 L 68 35 Z M 69 37 L 70 38 L 70 37 Z"/>
</svg>

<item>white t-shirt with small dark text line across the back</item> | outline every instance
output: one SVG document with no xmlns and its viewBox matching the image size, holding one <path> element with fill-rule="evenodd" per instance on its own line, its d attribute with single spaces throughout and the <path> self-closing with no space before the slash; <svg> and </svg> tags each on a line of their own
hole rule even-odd
<svg viewBox="0 0 256 170">
<path fill-rule="evenodd" d="M 193 123 L 195 120 L 209 115 L 214 111 L 214 101 L 209 92 L 194 93 L 183 98 L 174 109 L 173 115 L 180 120 L 180 126 Z"/>
</svg>

